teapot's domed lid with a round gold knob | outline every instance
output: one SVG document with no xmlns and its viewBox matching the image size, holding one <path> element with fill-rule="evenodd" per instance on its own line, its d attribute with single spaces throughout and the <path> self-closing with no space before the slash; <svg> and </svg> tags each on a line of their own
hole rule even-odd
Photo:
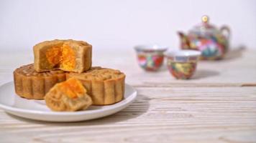
<svg viewBox="0 0 256 143">
<path fill-rule="evenodd" d="M 189 34 L 196 34 L 197 36 L 209 36 L 219 33 L 219 30 L 212 24 L 209 24 L 209 16 L 202 16 L 201 24 L 194 26 Z"/>
</svg>

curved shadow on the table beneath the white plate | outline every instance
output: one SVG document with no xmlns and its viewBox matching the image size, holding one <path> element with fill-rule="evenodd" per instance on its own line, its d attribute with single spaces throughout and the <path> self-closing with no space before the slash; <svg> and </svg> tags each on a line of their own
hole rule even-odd
<svg viewBox="0 0 256 143">
<path fill-rule="evenodd" d="M 150 99 L 148 97 L 145 97 L 142 94 L 138 94 L 137 99 L 135 99 L 135 101 L 132 104 L 130 104 L 129 107 L 123 109 L 122 111 L 107 117 L 102 117 L 99 119 L 92 119 L 92 120 L 82 121 L 82 122 L 45 122 L 45 121 L 36 121 L 32 119 L 25 119 L 22 117 L 14 116 L 9 113 L 6 113 L 6 114 L 14 119 L 20 120 L 21 122 L 28 122 L 32 124 L 45 124 L 45 125 L 51 125 L 53 127 L 114 124 L 116 122 L 124 122 L 129 119 L 140 117 L 149 109 L 150 107 L 149 101 Z"/>
</svg>

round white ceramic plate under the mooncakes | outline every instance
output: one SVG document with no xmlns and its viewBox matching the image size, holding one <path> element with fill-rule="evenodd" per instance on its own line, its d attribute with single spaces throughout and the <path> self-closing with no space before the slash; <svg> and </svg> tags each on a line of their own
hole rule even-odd
<svg viewBox="0 0 256 143">
<path fill-rule="evenodd" d="M 0 108 L 9 114 L 27 119 L 48 122 L 78 122 L 88 119 L 106 117 L 128 107 L 137 97 L 134 88 L 125 85 L 124 99 L 107 106 L 91 106 L 79 112 L 52 112 L 46 107 L 44 100 L 32 100 L 19 97 L 14 92 L 14 82 L 8 82 L 0 87 Z"/>
</svg>

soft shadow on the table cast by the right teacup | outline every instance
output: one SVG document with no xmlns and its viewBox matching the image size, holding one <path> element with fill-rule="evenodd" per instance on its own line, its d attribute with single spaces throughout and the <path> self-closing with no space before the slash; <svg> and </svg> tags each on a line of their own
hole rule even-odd
<svg viewBox="0 0 256 143">
<path fill-rule="evenodd" d="M 198 69 L 191 79 L 204 79 L 208 77 L 214 77 L 219 75 L 219 71 L 213 71 L 209 69 Z"/>
</svg>

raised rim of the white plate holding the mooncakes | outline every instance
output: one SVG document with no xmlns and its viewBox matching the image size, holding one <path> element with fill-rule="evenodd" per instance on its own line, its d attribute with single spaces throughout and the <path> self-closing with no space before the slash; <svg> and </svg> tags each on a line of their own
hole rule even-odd
<svg viewBox="0 0 256 143">
<path fill-rule="evenodd" d="M 14 81 L 10 81 L 10 82 L 1 84 L 0 89 L 4 85 L 7 85 L 7 84 L 14 84 Z M 40 110 L 20 109 L 17 107 L 10 107 L 10 106 L 7 106 L 7 105 L 1 104 L 1 103 L 0 103 L 0 109 L 3 109 L 5 112 L 19 112 L 19 113 L 24 113 L 24 114 L 51 115 L 51 116 L 59 116 L 59 115 L 61 115 L 61 116 L 72 116 L 72 115 L 73 116 L 81 116 L 81 115 L 85 115 L 85 114 L 98 114 L 99 112 L 108 112 L 113 109 L 118 109 L 122 106 L 125 106 L 127 104 L 129 105 L 132 102 L 134 102 L 134 99 L 136 99 L 136 97 L 137 97 L 137 90 L 134 89 L 134 87 L 132 87 L 129 84 L 125 83 L 125 86 L 128 86 L 129 88 L 132 89 L 132 94 L 130 94 L 129 97 L 126 98 L 129 100 L 122 100 L 121 102 L 117 102 L 115 104 L 104 105 L 104 106 L 109 106 L 109 108 L 106 108 L 106 109 L 84 110 L 84 111 L 79 111 L 79 112 L 46 112 L 46 111 L 40 111 Z M 14 94 L 16 94 L 16 93 L 14 92 Z M 112 106 L 112 105 L 116 105 L 116 106 Z"/>
</svg>

